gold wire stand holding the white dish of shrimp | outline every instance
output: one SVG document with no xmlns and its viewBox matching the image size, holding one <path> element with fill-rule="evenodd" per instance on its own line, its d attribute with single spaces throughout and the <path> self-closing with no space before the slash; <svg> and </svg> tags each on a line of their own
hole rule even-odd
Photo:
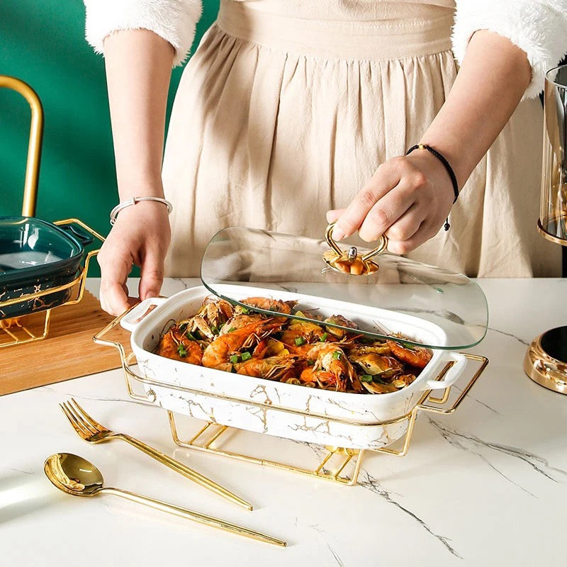
<svg viewBox="0 0 567 567">
<path fill-rule="evenodd" d="M 109 339 L 104 339 L 104 335 L 110 332 L 114 327 L 116 327 L 120 320 L 127 315 L 130 310 L 125 311 L 122 315 L 118 316 L 115 320 L 110 322 L 103 330 L 98 332 L 94 337 L 93 340 L 97 344 L 103 344 L 108 347 L 114 347 L 118 349 L 120 353 L 120 363 L 123 369 L 123 374 L 125 378 L 126 388 L 128 391 L 128 395 L 130 398 L 137 400 L 141 403 L 148 403 L 154 404 L 157 396 L 153 391 L 153 387 L 159 388 L 169 388 L 176 391 L 183 391 L 186 393 L 196 393 L 198 395 L 203 395 L 209 398 L 221 399 L 221 400 L 229 400 L 235 403 L 246 403 L 247 405 L 257 405 L 260 408 L 265 408 L 265 405 L 259 402 L 254 402 L 253 400 L 244 400 L 240 398 L 235 398 L 232 396 L 219 394 L 219 393 L 210 393 L 210 392 L 203 392 L 194 390 L 192 388 L 184 388 L 182 386 L 176 386 L 171 383 L 162 382 L 159 380 L 155 380 L 152 378 L 147 378 L 145 376 L 140 376 L 133 370 L 133 366 L 136 364 L 135 356 L 133 353 L 126 354 L 124 346 L 121 342 L 113 341 Z M 403 439 L 399 439 L 398 442 L 395 442 L 395 445 L 401 447 L 398 449 L 394 449 L 393 447 L 381 447 L 381 449 L 350 449 L 348 447 L 325 447 L 325 455 L 322 457 L 322 460 L 315 468 L 303 468 L 301 466 L 294 466 L 291 464 L 286 464 L 281 461 L 273 461 L 270 459 L 262 459 L 256 456 L 242 454 L 236 451 L 230 451 L 225 447 L 221 446 L 221 442 L 223 442 L 226 438 L 227 432 L 234 432 L 238 431 L 234 427 L 229 427 L 227 425 L 222 425 L 218 423 L 210 423 L 206 422 L 201 429 L 199 429 L 192 437 L 189 438 L 187 441 L 183 441 L 181 437 L 179 437 L 179 432 L 177 430 L 177 425 L 175 421 L 174 412 L 171 410 L 167 410 L 167 416 L 169 419 L 169 427 L 172 432 L 172 438 L 175 444 L 179 445 L 179 447 L 185 447 L 187 449 L 194 449 L 196 451 L 206 452 L 208 454 L 220 455 L 229 457 L 231 459 L 237 459 L 239 461 L 245 461 L 247 463 L 252 464 L 260 464 L 263 466 L 271 466 L 274 468 L 279 468 L 285 471 L 293 471 L 295 473 L 301 473 L 304 475 L 321 478 L 326 481 L 333 481 L 336 483 L 341 483 L 345 485 L 355 485 L 357 484 L 359 472 L 361 468 L 361 463 L 364 455 L 369 452 L 373 451 L 376 453 L 386 453 L 394 456 L 405 456 L 408 454 L 408 450 L 410 448 L 410 441 L 412 439 L 412 434 L 415 426 L 415 420 L 417 414 L 419 412 L 433 412 L 442 415 L 449 415 L 453 413 L 461 404 L 461 402 L 466 397 L 468 391 L 474 386 L 478 378 L 483 373 L 486 365 L 488 364 L 488 359 L 486 357 L 479 356 L 477 354 L 468 354 L 463 353 L 464 356 L 471 360 L 478 363 L 478 368 L 476 369 L 475 373 L 473 374 L 472 378 L 466 383 L 466 386 L 461 390 L 459 396 L 451 403 L 449 407 L 444 407 L 444 405 L 449 400 L 449 395 L 451 391 L 451 386 L 445 388 L 444 393 L 439 398 L 436 398 L 431 395 L 431 391 L 426 391 L 423 393 L 420 400 L 417 402 L 417 405 L 406 415 L 402 417 L 398 417 L 395 420 L 388 420 L 388 421 L 378 421 L 372 423 L 362 423 L 362 422 L 354 422 L 353 420 L 348 419 L 335 419 L 333 421 L 336 422 L 344 422 L 349 423 L 351 425 L 357 425 L 359 427 L 376 427 L 377 425 L 393 425 L 396 423 L 408 422 L 408 427 L 405 432 Z M 441 372 L 439 372 L 438 376 L 435 380 L 441 380 L 447 371 L 451 368 L 454 364 L 453 361 L 447 362 Z M 133 382 L 142 383 L 146 386 L 146 391 L 144 394 L 136 393 L 133 387 Z M 434 404 L 434 405 L 431 405 Z M 285 407 L 279 407 L 277 405 L 270 405 L 269 409 L 271 411 L 280 411 L 280 412 L 288 412 L 298 415 L 307 415 L 309 417 L 324 417 L 325 419 L 329 419 L 328 415 L 318 415 L 313 412 L 305 412 L 301 410 L 291 410 Z M 352 469 L 352 473 L 347 474 L 345 469 L 349 464 L 354 465 Z"/>
</svg>

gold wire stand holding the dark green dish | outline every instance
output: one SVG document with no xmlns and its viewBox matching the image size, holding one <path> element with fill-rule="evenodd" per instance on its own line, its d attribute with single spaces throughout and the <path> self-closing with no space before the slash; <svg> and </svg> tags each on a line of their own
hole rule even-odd
<svg viewBox="0 0 567 567">
<path fill-rule="evenodd" d="M 53 223 L 53 224 L 58 225 L 58 226 L 59 225 L 77 224 L 80 227 L 84 228 L 84 230 L 89 232 L 91 235 L 96 237 L 98 240 L 100 240 L 101 242 L 104 242 L 104 237 L 102 235 L 100 235 L 99 232 L 96 232 L 96 230 L 93 230 L 92 228 L 90 228 L 88 225 L 86 225 L 85 223 L 83 223 L 81 220 L 79 220 L 77 218 L 67 218 L 65 220 L 56 220 L 55 223 Z M 67 301 L 65 301 L 61 305 L 57 305 L 57 307 L 50 308 L 50 309 L 47 309 L 47 310 L 42 312 L 44 314 L 43 315 L 43 317 L 44 317 L 43 325 L 38 325 L 40 327 L 43 327 L 43 332 L 41 332 L 41 334 L 34 333 L 26 325 L 21 325 L 21 326 L 17 326 L 17 327 L 0 328 L 0 333 L 1 333 L 0 337 L 4 338 L 4 339 L 0 338 L 0 349 L 4 349 L 6 347 L 13 347 L 16 344 L 26 344 L 28 342 L 40 341 L 40 340 L 45 339 L 47 337 L 47 335 L 49 334 L 51 311 L 53 309 L 58 309 L 58 308 L 64 307 L 65 305 L 75 305 L 76 303 L 79 303 L 79 301 L 82 300 L 83 294 L 84 294 L 85 283 L 86 283 L 86 274 L 89 271 L 89 264 L 91 262 L 91 258 L 94 257 L 96 254 L 98 254 L 99 250 L 100 249 L 97 248 L 96 250 L 91 250 L 90 252 L 88 252 L 86 254 L 86 257 L 84 259 L 84 265 L 81 266 L 81 268 L 79 269 L 79 274 L 77 275 L 77 277 L 73 281 L 69 281 L 68 283 L 64 283 L 61 286 L 56 286 L 56 287 L 52 287 L 52 288 L 47 288 L 47 289 L 42 290 L 42 291 L 37 291 L 35 293 L 28 293 L 25 296 L 11 298 L 11 299 L 6 300 L 6 301 L 0 301 L 0 309 L 1 309 L 3 307 L 8 307 L 9 305 L 15 305 L 16 303 L 23 303 L 24 301 L 30 301 L 30 300 L 42 298 L 44 296 L 48 296 L 48 295 L 51 295 L 52 293 L 57 293 L 59 291 L 64 291 L 66 289 L 72 290 L 71 296 Z M 33 315 L 33 313 L 30 313 L 30 315 Z M 29 315 L 21 315 L 22 318 L 26 318 L 28 316 Z M 11 318 L 8 317 L 6 319 L 11 319 Z"/>
</svg>

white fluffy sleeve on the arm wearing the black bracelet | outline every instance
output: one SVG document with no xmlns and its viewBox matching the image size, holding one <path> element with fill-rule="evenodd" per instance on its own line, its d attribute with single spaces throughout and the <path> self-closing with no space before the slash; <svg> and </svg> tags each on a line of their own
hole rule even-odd
<svg viewBox="0 0 567 567">
<path fill-rule="evenodd" d="M 456 0 L 453 52 L 463 61 L 476 30 L 490 30 L 520 47 L 532 65 L 524 99 L 544 88 L 546 71 L 567 52 L 567 0 Z"/>
</svg>

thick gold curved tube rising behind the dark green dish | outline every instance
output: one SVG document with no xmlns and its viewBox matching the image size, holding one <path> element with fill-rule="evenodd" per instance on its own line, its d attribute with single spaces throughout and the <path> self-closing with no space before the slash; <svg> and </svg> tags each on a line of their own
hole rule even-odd
<svg viewBox="0 0 567 567">
<path fill-rule="evenodd" d="M 0 75 L 0 87 L 11 89 L 23 96 L 31 108 L 30 141 L 26 163 L 26 181 L 23 186 L 22 215 L 35 216 L 35 203 L 38 200 L 38 180 L 40 174 L 41 142 L 43 140 L 43 108 L 38 94 L 27 83 Z"/>
</svg>

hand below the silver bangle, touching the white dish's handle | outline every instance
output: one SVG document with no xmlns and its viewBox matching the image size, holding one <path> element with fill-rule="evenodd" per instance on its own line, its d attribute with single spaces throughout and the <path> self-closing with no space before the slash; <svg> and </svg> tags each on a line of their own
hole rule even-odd
<svg viewBox="0 0 567 567">
<path fill-rule="evenodd" d="M 140 266 L 140 301 L 159 296 L 164 259 L 171 240 L 167 207 L 157 201 L 139 201 L 120 210 L 98 254 L 101 266 L 101 307 L 120 315 L 135 303 L 126 281 L 134 265 Z"/>
</svg>

